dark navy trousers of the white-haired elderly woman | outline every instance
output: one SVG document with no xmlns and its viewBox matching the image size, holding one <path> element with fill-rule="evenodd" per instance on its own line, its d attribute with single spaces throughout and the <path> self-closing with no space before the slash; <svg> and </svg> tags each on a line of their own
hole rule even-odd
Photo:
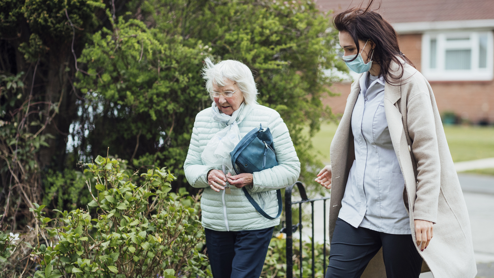
<svg viewBox="0 0 494 278">
<path fill-rule="evenodd" d="M 246 231 L 205 229 L 214 278 L 259 278 L 274 227 Z"/>
</svg>

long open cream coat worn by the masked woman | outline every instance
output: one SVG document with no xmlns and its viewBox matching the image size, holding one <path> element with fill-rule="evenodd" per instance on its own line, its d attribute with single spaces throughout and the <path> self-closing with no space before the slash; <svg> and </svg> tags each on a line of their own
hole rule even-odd
<svg viewBox="0 0 494 278">
<path fill-rule="evenodd" d="M 397 75 L 398 65 L 391 73 Z M 471 278 L 477 268 L 467 207 L 444 135 L 432 89 L 415 68 L 405 65 L 401 86 L 386 84 L 384 108 L 393 147 L 405 180 L 403 204 L 414 220 L 434 223 L 434 236 L 420 255 L 422 270 L 435 278 Z M 398 84 L 399 85 L 399 84 Z M 355 159 L 351 116 L 360 86 L 352 84 L 345 112 L 331 143 L 332 191 L 330 240 Z M 415 232 L 412 233 L 416 242 Z M 381 251 L 362 277 L 386 277 Z"/>
</svg>

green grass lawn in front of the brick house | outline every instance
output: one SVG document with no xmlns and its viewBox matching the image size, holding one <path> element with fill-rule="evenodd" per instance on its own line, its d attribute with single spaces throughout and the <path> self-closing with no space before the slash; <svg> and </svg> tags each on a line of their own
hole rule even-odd
<svg viewBox="0 0 494 278">
<path fill-rule="evenodd" d="M 316 154 L 324 164 L 330 162 L 330 144 L 336 124 L 322 124 L 312 138 Z M 494 157 L 494 128 L 477 126 L 445 126 L 444 132 L 454 162 Z M 318 152 L 318 153 L 317 153 Z M 494 174 L 494 169 L 475 170 L 475 173 Z"/>
</svg>

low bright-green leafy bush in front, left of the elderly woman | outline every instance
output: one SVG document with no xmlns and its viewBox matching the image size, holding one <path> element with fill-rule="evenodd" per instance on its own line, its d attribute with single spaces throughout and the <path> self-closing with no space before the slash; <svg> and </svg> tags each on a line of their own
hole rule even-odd
<svg viewBox="0 0 494 278">
<path fill-rule="evenodd" d="M 54 210 L 61 215 L 54 219 L 45 217 L 44 205 L 30 209 L 43 237 L 32 252 L 42 266 L 34 277 L 210 276 L 200 252 L 198 197 L 184 188 L 169 193 L 170 172 L 154 168 L 139 177 L 121 169 L 125 161 L 101 156 L 86 166 L 93 199 L 87 209 Z"/>
</svg>

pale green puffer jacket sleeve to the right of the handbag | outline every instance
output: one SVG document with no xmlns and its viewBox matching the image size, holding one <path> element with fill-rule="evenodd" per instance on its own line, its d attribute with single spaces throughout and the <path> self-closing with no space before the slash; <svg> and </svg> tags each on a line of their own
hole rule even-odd
<svg viewBox="0 0 494 278">
<path fill-rule="evenodd" d="M 253 174 L 254 186 L 248 188 L 251 192 L 262 192 L 290 186 L 297 181 L 300 175 L 300 162 L 297 152 L 288 128 L 278 112 L 274 112 L 270 117 L 268 127 L 273 135 L 278 166 L 255 172 Z"/>
</svg>

